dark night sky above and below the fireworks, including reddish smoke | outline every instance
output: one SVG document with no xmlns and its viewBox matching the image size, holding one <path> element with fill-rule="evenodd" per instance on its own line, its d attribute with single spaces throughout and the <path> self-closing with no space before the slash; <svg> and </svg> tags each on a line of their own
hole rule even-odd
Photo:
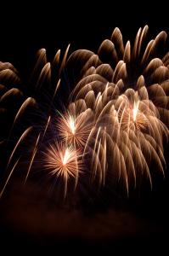
<svg viewBox="0 0 169 256">
<path fill-rule="evenodd" d="M 98 1 L 99 2 L 99 1 Z M 133 1 L 132 1 L 133 2 Z M 97 52 L 118 26 L 124 41 L 133 40 L 140 26 L 149 25 L 149 36 L 168 32 L 165 3 L 3 3 L 0 6 L 0 61 L 9 61 L 26 81 L 38 49 L 47 49 L 50 60 L 57 49 Z M 133 41 L 132 41 L 133 42 Z M 169 49 L 168 41 L 166 49 Z M 166 154 L 167 159 L 167 154 Z M 166 160 L 168 165 L 168 160 Z M 167 167 L 168 169 L 168 167 Z M 71 253 L 159 253 L 167 249 L 168 171 L 155 190 L 130 200 L 102 200 L 82 209 L 59 209 L 35 185 L 19 183 L 0 201 L 0 244 L 8 250 L 22 247 L 32 253 L 44 249 Z M 21 191 L 21 192 L 20 192 Z M 80 249 L 80 251 L 79 251 Z M 161 254 L 162 255 L 162 254 Z"/>
</svg>

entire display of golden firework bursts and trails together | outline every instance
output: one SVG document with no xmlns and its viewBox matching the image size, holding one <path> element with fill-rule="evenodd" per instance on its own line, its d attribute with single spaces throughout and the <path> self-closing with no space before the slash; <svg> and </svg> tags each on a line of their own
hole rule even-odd
<svg viewBox="0 0 169 256">
<path fill-rule="evenodd" d="M 21 169 L 23 183 L 46 173 L 63 198 L 69 184 L 130 196 L 165 177 L 169 52 L 166 32 L 148 30 L 124 43 L 115 28 L 97 54 L 68 46 L 48 62 L 41 49 L 27 84 L 0 63 L 1 196 Z"/>
</svg>

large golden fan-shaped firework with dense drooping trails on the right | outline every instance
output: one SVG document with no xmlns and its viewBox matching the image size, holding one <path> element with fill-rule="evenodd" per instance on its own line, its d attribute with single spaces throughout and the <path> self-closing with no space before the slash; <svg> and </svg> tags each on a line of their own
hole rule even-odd
<svg viewBox="0 0 169 256">
<path fill-rule="evenodd" d="M 115 28 L 111 40 L 100 45 L 98 55 L 77 50 L 70 57 L 70 61 L 77 58 L 83 63 L 82 79 L 71 98 L 74 102 L 83 99 L 94 114 L 85 146 L 85 151 L 89 147 L 93 152 L 94 177 L 98 174 L 100 183 L 106 173 L 112 183 L 121 178 L 127 191 L 144 173 L 152 184 L 150 166 L 157 165 L 164 174 L 169 54 L 162 59 L 155 55 L 166 32 L 146 45 L 147 32 L 148 26 L 138 30 L 132 48 L 129 41 L 124 46 L 121 32 Z"/>
</svg>

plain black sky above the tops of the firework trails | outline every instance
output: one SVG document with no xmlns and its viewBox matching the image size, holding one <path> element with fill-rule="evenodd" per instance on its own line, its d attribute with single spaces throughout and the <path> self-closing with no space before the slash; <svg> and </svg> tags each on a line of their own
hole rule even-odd
<svg viewBox="0 0 169 256">
<path fill-rule="evenodd" d="M 69 43 L 71 49 L 96 51 L 104 38 L 110 38 L 115 26 L 120 27 L 126 40 L 133 38 L 138 28 L 146 24 L 152 36 L 168 29 L 164 3 L 149 3 L 148 6 L 143 1 L 132 2 L 45 1 L 35 4 L 5 1 L 1 4 L 0 59 L 23 67 L 37 49 L 46 48 L 49 55 L 54 55 L 56 49 L 65 49 Z"/>
</svg>

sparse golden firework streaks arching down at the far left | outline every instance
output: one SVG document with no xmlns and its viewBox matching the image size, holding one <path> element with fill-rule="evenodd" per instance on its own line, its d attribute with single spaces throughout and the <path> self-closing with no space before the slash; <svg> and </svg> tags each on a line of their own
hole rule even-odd
<svg viewBox="0 0 169 256">
<path fill-rule="evenodd" d="M 6 171 L 1 173 L 3 190 L 20 163 L 27 163 L 25 181 L 31 172 L 48 131 L 51 116 L 56 113 L 54 105 L 68 50 L 69 46 L 63 57 L 58 50 L 54 60 L 49 63 L 46 50 L 40 49 L 30 83 L 26 81 L 29 88 L 23 86 L 13 65 L 0 63 L 0 149 L 3 156 L 1 167 Z"/>
</svg>

